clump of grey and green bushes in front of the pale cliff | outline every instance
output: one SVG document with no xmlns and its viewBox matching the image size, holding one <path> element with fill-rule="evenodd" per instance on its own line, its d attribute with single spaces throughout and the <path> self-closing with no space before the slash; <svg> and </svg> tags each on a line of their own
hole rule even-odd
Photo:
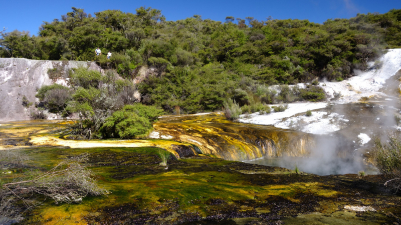
<svg viewBox="0 0 401 225">
<path fill-rule="evenodd" d="M 133 81 L 117 77 L 112 70 L 102 76 L 99 71 L 78 68 L 70 77 L 73 84 L 70 87 L 42 86 L 36 95 L 41 100 L 37 103 L 38 110 L 32 111 L 33 118 L 44 116 L 42 106 L 63 117 L 75 117 L 70 137 L 142 137 L 151 130 L 151 121 L 162 112 L 153 106 L 130 105 L 136 101 Z"/>
</svg>

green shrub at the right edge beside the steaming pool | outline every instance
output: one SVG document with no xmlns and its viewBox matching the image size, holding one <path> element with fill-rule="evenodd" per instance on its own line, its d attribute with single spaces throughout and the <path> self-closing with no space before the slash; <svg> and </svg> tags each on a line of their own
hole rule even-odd
<svg viewBox="0 0 401 225">
<path fill-rule="evenodd" d="M 390 133 L 388 139 L 386 144 L 379 137 L 374 139 L 373 156 L 377 169 L 386 176 L 385 185 L 397 192 L 401 187 L 401 134 Z"/>
</svg>

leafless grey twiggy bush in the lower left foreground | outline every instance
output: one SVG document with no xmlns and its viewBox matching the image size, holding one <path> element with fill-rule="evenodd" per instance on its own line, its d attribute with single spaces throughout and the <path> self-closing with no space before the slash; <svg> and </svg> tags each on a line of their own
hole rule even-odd
<svg viewBox="0 0 401 225">
<path fill-rule="evenodd" d="M 13 151 L 2 153 L 3 163 L 14 166 L 13 161 L 21 163 L 24 161 L 24 154 L 16 154 Z M 22 201 L 26 208 L 38 205 L 35 199 L 36 194 L 41 194 L 52 198 L 56 203 L 59 202 L 81 202 L 82 198 L 87 195 L 101 195 L 109 193 L 107 190 L 100 188 L 96 181 L 92 178 L 92 172 L 87 169 L 83 162 L 87 160 L 88 153 L 80 154 L 76 157 L 63 160 L 57 166 L 49 171 L 43 172 L 39 170 L 27 171 L 23 176 L 19 175 L 12 182 L 4 182 L 1 180 L 2 188 L 0 189 L 0 216 L 13 219 L 20 219 L 14 215 L 21 211 L 14 205 L 16 200 Z M 4 167 L 4 166 L 3 166 Z M 28 179 L 26 177 L 29 177 Z M 32 178 L 33 177 L 33 178 Z M 11 216 L 13 215 L 13 216 Z"/>
</svg>

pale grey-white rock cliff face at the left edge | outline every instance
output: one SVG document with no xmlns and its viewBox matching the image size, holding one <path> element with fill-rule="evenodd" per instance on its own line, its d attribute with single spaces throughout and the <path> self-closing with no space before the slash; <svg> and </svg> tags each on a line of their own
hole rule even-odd
<svg viewBox="0 0 401 225">
<path fill-rule="evenodd" d="M 80 66 L 101 71 L 95 62 L 0 58 L 0 120 L 29 119 L 22 98 L 25 95 L 29 101 L 37 101 L 37 89 L 53 82 L 47 74 L 49 68 L 58 68 L 62 77 L 56 82 L 66 85 L 68 71 Z"/>
</svg>

